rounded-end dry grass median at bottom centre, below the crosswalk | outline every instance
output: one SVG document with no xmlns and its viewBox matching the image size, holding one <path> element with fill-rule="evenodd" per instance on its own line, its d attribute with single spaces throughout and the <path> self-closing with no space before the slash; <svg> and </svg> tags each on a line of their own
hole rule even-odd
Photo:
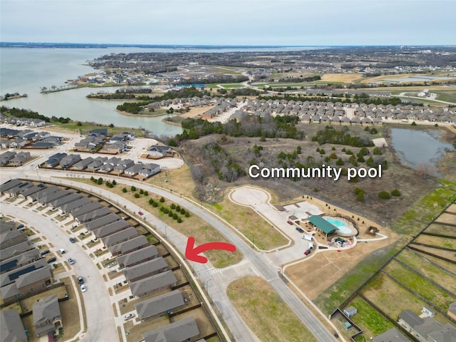
<svg viewBox="0 0 456 342">
<path fill-rule="evenodd" d="M 227 294 L 261 341 L 317 341 L 264 279 L 251 276 L 233 281 Z"/>
</svg>

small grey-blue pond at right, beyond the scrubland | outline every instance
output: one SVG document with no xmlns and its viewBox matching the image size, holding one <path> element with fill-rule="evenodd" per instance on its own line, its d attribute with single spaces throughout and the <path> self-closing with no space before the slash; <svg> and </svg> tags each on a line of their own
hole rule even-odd
<svg viewBox="0 0 456 342">
<path fill-rule="evenodd" d="M 437 140 L 438 132 L 392 128 L 393 148 L 403 164 L 416 168 L 418 163 L 435 165 L 445 154 L 445 148 L 453 150 L 451 144 Z"/>
</svg>

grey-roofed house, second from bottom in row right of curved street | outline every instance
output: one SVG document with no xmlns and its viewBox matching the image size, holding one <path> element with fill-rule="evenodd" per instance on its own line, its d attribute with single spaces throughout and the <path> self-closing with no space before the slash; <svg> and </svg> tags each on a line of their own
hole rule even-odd
<svg viewBox="0 0 456 342">
<path fill-rule="evenodd" d="M 179 290 L 160 294 L 152 299 L 140 301 L 135 304 L 136 312 L 142 322 L 149 319 L 171 314 L 185 307 L 185 301 L 182 293 Z"/>
</svg>

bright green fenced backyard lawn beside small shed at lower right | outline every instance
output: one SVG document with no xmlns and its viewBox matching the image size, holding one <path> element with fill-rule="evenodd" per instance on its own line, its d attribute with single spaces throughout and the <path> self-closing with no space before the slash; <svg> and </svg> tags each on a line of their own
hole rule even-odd
<svg viewBox="0 0 456 342">
<path fill-rule="evenodd" d="M 356 296 L 349 305 L 358 309 L 356 315 L 351 319 L 363 329 L 365 336 L 376 336 L 394 327 L 393 323 L 373 309 L 360 296 Z"/>
</svg>

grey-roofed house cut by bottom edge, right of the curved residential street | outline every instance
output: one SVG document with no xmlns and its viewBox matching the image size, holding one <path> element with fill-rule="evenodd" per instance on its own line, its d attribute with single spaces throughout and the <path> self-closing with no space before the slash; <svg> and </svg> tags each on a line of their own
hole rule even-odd
<svg viewBox="0 0 456 342">
<path fill-rule="evenodd" d="M 165 342 L 165 341 L 195 341 L 199 335 L 197 322 L 193 317 L 187 317 L 180 321 L 175 321 L 155 330 L 145 333 L 145 342 Z"/>
</svg>

